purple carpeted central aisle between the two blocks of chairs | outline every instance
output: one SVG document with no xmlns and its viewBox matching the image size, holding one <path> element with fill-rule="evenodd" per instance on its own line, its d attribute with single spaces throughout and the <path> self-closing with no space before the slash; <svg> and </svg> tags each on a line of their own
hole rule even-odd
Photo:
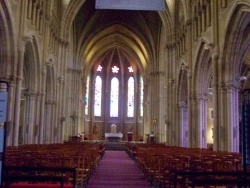
<svg viewBox="0 0 250 188">
<path fill-rule="evenodd" d="M 125 151 L 105 151 L 87 188 L 149 188 L 150 183 Z"/>
</svg>

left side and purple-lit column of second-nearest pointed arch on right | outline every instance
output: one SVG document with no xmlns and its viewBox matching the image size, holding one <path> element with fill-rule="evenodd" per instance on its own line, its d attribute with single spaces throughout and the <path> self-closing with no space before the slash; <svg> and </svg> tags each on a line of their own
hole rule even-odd
<svg viewBox="0 0 250 188">
<path fill-rule="evenodd" d="M 193 98 L 195 107 L 192 108 L 192 111 L 197 116 L 193 117 L 191 131 L 197 139 L 195 141 L 197 146 L 202 148 L 207 147 L 208 88 L 212 72 L 212 50 L 206 47 L 207 44 L 204 40 L 200 41 L 193 78 L 193 89 L 196 93 Z"/>
</svg>

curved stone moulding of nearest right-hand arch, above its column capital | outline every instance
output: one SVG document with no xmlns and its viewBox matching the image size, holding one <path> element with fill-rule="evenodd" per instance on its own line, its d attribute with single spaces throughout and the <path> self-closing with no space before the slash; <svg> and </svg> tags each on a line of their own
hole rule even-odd
<svg viewBox="0 0 250 188">
<path fill-rule="evenodd" d="M 250 46 L 250 2 L 237 2 L 231 10 L 222 53 L 222 76 L 238 81 L 243 54 Z M 244 36 L 244 38 L 243 38 Z M 228 45 L 230 44 L 230 45 Z"/>
</svg>

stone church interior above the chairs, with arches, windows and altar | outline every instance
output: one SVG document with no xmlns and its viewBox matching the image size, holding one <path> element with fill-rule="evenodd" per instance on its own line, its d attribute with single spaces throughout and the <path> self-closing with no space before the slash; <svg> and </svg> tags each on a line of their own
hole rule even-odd
<svg viewBox="0 0 250 188">
<path fill-rule="evenodd" d="M 98 2 L 0 1 L 1 143 L 153 142 L 250 161 L 250 1 Z"/>
</svg>

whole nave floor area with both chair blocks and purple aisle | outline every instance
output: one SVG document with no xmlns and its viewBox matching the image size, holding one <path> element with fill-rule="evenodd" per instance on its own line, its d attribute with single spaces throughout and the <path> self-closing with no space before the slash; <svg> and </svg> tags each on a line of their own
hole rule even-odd
<svg viewBox="0 0 250 188">
<path fill-rule="evenodd" d="M 114 150 L 109 144 L 8 147 L 4 183 L 10 188 L 249 186 L 250 169 L 244 173 L 239 153 L 135 142 L 112 142 L 122 146 Z"/>
</svg>

